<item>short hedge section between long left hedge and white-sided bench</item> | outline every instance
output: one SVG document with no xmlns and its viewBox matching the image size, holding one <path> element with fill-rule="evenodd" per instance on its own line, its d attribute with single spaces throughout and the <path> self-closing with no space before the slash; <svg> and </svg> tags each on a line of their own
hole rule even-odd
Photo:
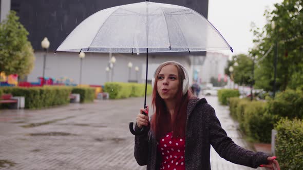
<svg viewBox="0 0 303 170">
<path fill-rule="evenodd" d="M 88 103 L 93 102 L 94 100 L 94 88 L 89 87 L 77 87 L 72 88 L 71 93 L 80 94 L 80 102 L 81 103 Z"/>
</svg>

